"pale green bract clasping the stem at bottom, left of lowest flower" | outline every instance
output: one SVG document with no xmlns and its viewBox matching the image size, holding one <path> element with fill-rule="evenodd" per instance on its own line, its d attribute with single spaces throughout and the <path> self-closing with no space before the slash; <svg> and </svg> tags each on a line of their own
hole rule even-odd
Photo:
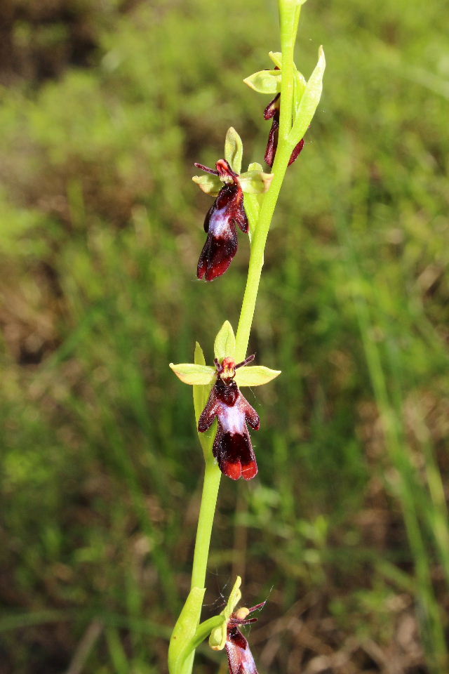
<svg viewBox="0 0 449 674">
<path fill-rule="evenodd" d="M 168 671 L 183 674 L 187 659 L 194 650 L 194 639 L 206 588 L 192 588 L 185 601 L 168 647 Z"/>
</svg>

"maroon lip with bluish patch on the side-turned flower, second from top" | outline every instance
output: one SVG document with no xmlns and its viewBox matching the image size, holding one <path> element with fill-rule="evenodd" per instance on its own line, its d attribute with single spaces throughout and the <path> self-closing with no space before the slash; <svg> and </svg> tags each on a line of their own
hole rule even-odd
<svg viewBox="0 0 449 674">
<path fill-rule="evenodd" d="M 232 263 L 238 246 L 236 225 L 239 225 L 242 232 L 248 232 L 248 218 L 243 206 L 239 176 L 232 171 L 225 159 L 217 161 L 216 171 L 201 164 L 195 166 L 227 180 L 206 213 L 204 231 L 208 236 L 196 270 L 199 279 L 213 281 L 224 274 Z"/>
</svg>

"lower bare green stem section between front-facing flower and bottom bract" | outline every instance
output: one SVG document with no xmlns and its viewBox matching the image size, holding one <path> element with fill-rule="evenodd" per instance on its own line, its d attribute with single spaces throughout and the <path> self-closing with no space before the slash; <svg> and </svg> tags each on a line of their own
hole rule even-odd
<svg viewBox="0 0 449 674">
<path fill-rule="evenodd" d="M 215 463 L 212 451 L 210 451 L 210 458 L 206 461 L 206 469 L 204 471 L 203 494 L 201 495 L 198 527 L 196 529 L 192 588 L 203 588 L 205 586 L 210 534 L 212 533 L 221 475 L 220 468 Z"/>
</svg>

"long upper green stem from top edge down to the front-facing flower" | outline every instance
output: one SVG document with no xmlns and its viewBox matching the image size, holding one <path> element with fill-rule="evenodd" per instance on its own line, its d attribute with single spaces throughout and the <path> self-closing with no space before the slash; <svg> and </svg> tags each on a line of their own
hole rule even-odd
<svg viewBox="0 0 449 674">
<path fill-rule="evenodd" d="M 281 23 L 281 50 L 282 50 L 282 84 L 281 84 L 281 113 L 279 118 L 279 141 L 276 158 L 273 164 L 274 178 L 271 187 L 264 196 L 260 207 L 259 219 L 253 243 L 251 245 L 250 264 L 246 289 L 241 305 L 239 326 L 236 333 L 236 361 L 246 357 L 250 338 L 251 325 L 257 291 L 259 290 L 260 275 L 264 264 L 264 249 L 267 242 L 269 227 L 272 223 L 274 209 L 281 191 L 283 178 L 286 175 L 288 160 L 295 147 L 295 142 L 288 140 L 292 128 L 293 106 L 293 51 L 295 48 L 297 25 L 300 20 L 301 6 L 288 0 L 279 0 L 279 19 Z"/>
</svg>

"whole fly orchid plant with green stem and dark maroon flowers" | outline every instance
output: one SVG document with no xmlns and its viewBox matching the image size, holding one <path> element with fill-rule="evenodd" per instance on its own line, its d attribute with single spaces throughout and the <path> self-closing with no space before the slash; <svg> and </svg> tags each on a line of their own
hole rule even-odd
<svg viewBox="0 0 449 674">
<path fill-rule="evenodd" d="M 272 70 L 260 70 L 244 80 L 257 93 L 272 97 L 264 108 L 264 118 L 272 120 L 264 155 L 270 172 L 264 172 L 257 163 L 241 172 L 243 145 L 232 127 L 225 138 L 225 157 L 217 160 L 215 169 L 195 164 L 206 175 L 194 176 L 194 182 L 215 197 L 204 220 L 207 237 L 199 256 L 197 277 L 211 282 L 229 270 L 238 247 L 237 227 L 249 236 L 250 262 L 236 334 L 225 321 L 215 337 L 213 364 L 206 364 L 199 343 L 193 363 L 170 363 L 177 377 L 193 387 L 196 428 L 206 464 L 191 589 L 170 639 L 170 674 L 191 674 L 196 647 L 209 635 L 210 647 L 226 649 L 230 674 L 257 674 L 248 641 L 239 627 L 253 623 L 255 618 L 248 615 L 264 604 L 235 610 L 241 598 L 239 576 L 222 613 L 203 622 L 200 619 L 220 477 L 223 474 L 232 480 L 252 480 L 257 475 L 248 425 L 259 430 L 260 419 L 241 388 L 269 383 L 280 374 L 279 370 L 250 365 L 255 356 L 247 356 L 247 350 L 264 247 L 283 178 L 304 147 L 304 135 L 321 98 L 326 67 L 323 49 L 319 48 L 318 62 L 308 81 L 293 61 L 305 1 L 278 0 L 281 52 L 269 52 Z"/>
</svg>

